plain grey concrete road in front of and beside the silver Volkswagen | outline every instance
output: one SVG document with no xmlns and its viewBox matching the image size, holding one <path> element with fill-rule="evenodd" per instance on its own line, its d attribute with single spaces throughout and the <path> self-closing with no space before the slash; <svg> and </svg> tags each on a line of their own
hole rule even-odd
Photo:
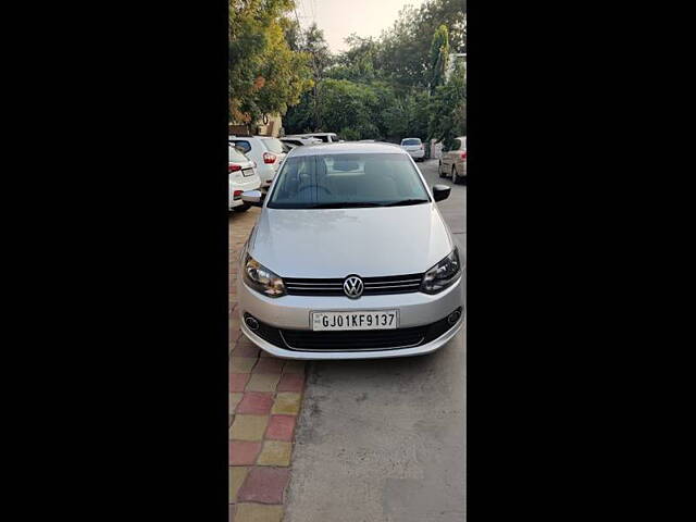
<svg viewBox="0 0 696 522">
<path fill-rule="evenodd" d="M 467 187 L 419 163 L 465 254 Z M 465 332 L 435 353 L 312 362 L 284 522 L 465 520 Z"/>
</svg>

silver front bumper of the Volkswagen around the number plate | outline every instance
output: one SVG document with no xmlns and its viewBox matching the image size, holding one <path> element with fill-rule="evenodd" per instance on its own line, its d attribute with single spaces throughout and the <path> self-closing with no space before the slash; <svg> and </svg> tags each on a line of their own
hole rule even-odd
<svg viewBox="0 0 696 522">
<path fill-rule="evenodd" d="M 336 360 L 336 359 L 382 359 L 430 353 L 447 344 L 461 330 L 465 316 L 463 309 L 463 276 L 457 283 L 437 295 L 422 293 L 363 296 L 352 300 L 347 297 L 307 297 L 283 296 L 270 298 L 250 289 L 241 281 L 238 283 L 239 319 L 241 331 L 259 348 L 285 359 Z M 327 310 L 378 310 L 398 309 L 399 328 L 422 327 L 427 334 L 417 346 L 388 347 L 372 349 L 370 346 L 356 345 L 346 348 L 302 349 L 289 348 L 282 333 L 293 331 L 310 334 L 312 311 Z M 446 318 L 455 310 L 461 310 L 459 320 L 445 324 Z M 265 330 L 252 332 L 245 324 L 245 313 L 260 321 Z M 271 332 L 272 335 L 269 335 Z M 274 334 L 273 332 L 278 332 Z M 397 332 L 397 331 L 384 331 Z M 260 335 L 261 334 L 261 335 Z"/>
</svg>

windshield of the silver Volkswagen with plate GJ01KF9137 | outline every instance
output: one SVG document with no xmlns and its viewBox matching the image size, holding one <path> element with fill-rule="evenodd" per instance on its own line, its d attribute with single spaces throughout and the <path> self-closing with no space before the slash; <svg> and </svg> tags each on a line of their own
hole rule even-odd
<svg viewBox="0 0 696 522">
<path fill-rule="evenodd" d="M 427 190 L 406 154 L 315 154 L 285 160 L 268 207 L 340 209 L 428 201 Z"/>
</svg>

